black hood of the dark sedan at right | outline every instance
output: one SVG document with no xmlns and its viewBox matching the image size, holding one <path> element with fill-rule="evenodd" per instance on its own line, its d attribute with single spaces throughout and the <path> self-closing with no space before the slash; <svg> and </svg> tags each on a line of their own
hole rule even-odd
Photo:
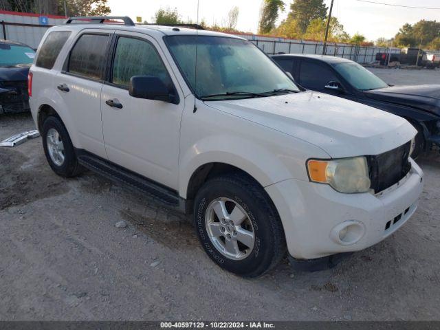
<svg viewBox="0 0 440 330">
<path fill-rule="evenodd" d="M 440 85 L 392 86 L 364 91 L 366 97 L 440 115 Z"/>
</svg>

